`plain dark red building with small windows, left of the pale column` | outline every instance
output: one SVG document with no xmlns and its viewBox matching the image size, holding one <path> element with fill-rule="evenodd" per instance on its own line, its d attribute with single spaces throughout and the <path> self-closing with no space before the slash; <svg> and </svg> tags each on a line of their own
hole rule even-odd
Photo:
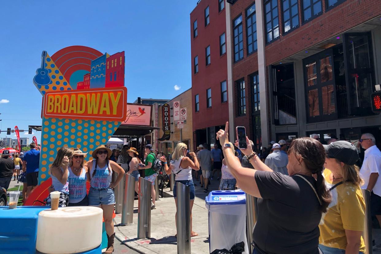
<svg viewBox="0 0 381 254">
<path fill-rule="evenodd" d="M 229 119 L 225 6 L 201 0 L 190 14 L 195 147 L 218 142 L 216 130 Z"/>
</svg>

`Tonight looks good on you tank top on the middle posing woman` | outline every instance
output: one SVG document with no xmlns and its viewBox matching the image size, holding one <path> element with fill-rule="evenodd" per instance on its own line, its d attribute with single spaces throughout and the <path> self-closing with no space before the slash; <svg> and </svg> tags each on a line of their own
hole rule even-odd
<svg viewBox="0 0 381 254">
<path fill-rule="evenodd" d="M 69 203 L 78 203 L 79 201 L 82 201 L 87 194 L 86 170 L 83 167 L 81 174 L 79 176 L 76 176 L 70 167 L 68 167 L 67 169 L 69 169 L 69 178 L 67 179 L 67 181 L 69 182 Z"/>
</svg>

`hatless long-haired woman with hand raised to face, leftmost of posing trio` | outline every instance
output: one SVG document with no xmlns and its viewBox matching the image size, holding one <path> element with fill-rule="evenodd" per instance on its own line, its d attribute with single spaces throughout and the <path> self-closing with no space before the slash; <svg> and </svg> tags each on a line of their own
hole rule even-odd
<svg viewBox="0 0 381 254">
<path fill-rule="evenodd" d="M 59 206 L 61 207 L 65 207 L 69 203 L 69 182 L 67 179 L 69 177 L 68 166 L 72 157 L 73 150 L 66 146 L 61 147 L 49 169 L 53 191 L 61 192 L 59 195 Z M 46 206 L 50 206 L 50 194 L 45 201 Z"/>
</svg>

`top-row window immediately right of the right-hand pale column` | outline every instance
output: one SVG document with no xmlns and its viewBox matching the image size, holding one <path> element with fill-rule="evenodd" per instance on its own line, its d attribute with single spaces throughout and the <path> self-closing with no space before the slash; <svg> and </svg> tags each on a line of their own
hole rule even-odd
<svg viewBox="0 0 381 254">
<path fill-rule="evenodd" d="M 278 2 L 277 0 L 266 0 L 264 6 L 267 33 L 266 42 L 269 43 L 279 37 Z"/>
</svg>

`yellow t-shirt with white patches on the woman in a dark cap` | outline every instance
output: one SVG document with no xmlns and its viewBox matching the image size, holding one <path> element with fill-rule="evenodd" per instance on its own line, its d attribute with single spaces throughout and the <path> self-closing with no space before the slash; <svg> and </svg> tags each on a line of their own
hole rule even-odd
<svg viewBox="0 0 381 254">
<path fill-rule="evenodd" d="M 330 181 L 331 171 L 324 169 L 323 176 L 327 188 L 333 185 Z M 359 186 L 344 182 L 331 190 L 332 201 L 326 213 L 320 220 L 319 243 L 338 249 L 346 249 L 347 238 L 345 230 L 363 231 L 365 217 L 365 202 Z M 365 243 L 361 236 L 360 250 L 365 252 Z"/>
</svg>

